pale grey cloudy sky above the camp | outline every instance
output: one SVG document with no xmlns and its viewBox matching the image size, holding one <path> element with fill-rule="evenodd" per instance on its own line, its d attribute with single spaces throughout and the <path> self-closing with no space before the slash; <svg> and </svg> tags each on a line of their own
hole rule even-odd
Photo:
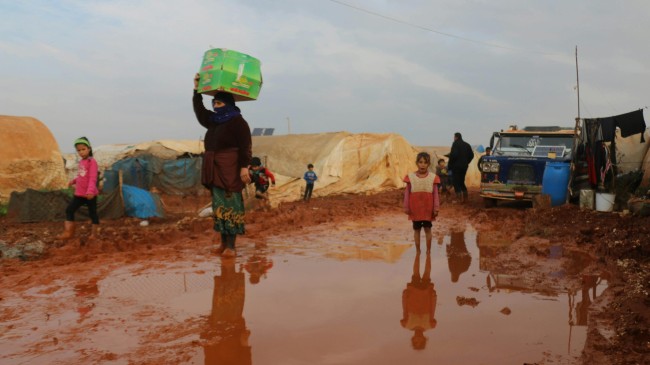
<svg viewBox="0 0 650 365">
<path fill-rule="evenodd" d="M 198 140 L 192 79 L 227 48 L 262 62 L 251 128 L 486 145 L 650 106 L 649 20 L 647 0 L 0 0 L 0 115 L 62 152 Z"/>
</svg>

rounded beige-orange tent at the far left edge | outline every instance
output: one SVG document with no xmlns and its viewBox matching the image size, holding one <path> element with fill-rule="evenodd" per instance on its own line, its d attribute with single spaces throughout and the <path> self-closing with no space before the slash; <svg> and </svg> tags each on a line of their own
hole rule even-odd
<svg viewBox="0 0 650 365">
<path fill-rule="evenodd" d="M 0 203 L 12 191 L 67 186 L 59 145 L 43 123 L 0 115 L 0 131 Z"/>
</svg>

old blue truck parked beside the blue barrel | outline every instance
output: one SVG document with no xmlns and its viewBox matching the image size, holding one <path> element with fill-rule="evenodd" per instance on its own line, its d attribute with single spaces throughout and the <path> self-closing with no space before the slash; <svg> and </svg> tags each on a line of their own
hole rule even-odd
<svg viewBox="0 0 650 365">
<path fill-rule="evenodd" d="M 498 200 L 532 201 L 542 192 L 547 162 L 571 161 L 573 128 L 510 126 L 494 132 L 492 155 L 479 161 L 480 195 L 486 207 Z"/>
</svg>

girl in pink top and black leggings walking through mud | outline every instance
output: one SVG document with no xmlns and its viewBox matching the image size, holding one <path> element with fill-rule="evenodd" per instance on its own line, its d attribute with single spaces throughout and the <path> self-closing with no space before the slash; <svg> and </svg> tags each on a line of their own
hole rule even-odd
<svg viewBox="0 0 650 365">
<path fill-rule="evenodd" d="M 65 231 L 57 238 L 67 240 L 74 236 L 74 214 L 85 205 L 88 207 L 88 215 L 92 221 L 90 238 L 97 236 L 99 227 L 99 216 L 97 215 L 97 161 L 93 158 L 93 149 L 88 138 L 81 137 L 74 141 L 74 147 L 81 157 L 77 169 L 77 177 L 68 183 L 68 186 L 75 186 L 74 197 L 65 210 Z"/>
</svg>

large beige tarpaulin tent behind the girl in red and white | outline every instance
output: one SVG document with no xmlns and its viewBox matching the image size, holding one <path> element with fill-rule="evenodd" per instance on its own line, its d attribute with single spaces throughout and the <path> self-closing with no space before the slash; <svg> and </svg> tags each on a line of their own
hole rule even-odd
<svg viewBox="0 0 650 365">
<path fill-rule="evenodd" d="M 302 177 L 309 163 L 314 164 L 318 175 L 314 196 L 401 188 L 404 176 L 415 169 L 417 152 L 397 134 L 336 132 L 253 137 L 253 155 L 265 160 L 283 184 L 271 190 L 275 202 L 300 197 Z"/>
</svg>

